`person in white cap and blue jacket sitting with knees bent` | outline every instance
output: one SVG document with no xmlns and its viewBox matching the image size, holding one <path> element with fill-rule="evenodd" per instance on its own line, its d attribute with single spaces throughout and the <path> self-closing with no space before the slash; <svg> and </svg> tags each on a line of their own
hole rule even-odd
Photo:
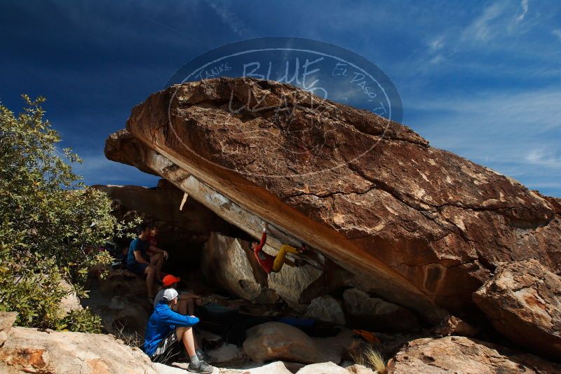
<svg viewBox="0 0 561 374">
<path fill-rule="evenodd" d="M 187 370 L 191 373 L 212 373 L 214 368 L 198 357 L 192 326 L 199 319 L 184 316 L 172 310 L 177 304 L 175 289 L 165 289 L 146 326 L 142 350 L 151 361 L 165 363 L 183 352 L 189 358 Z"/>
</svg>

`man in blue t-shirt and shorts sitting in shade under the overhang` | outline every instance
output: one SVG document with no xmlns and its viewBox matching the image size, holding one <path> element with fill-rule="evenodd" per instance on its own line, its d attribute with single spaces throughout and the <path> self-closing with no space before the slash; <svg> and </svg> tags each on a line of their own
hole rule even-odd
<svg viewBox="0 0 561 374">
<path fill-rule="evenodd" d="M 148 242 L 148 226 L 142 223 L 137 227 L 138 237 L 130 242 L 127 254 L 127 269 L 141 277 L 146 275 L 146 286 L 148 301 L 154 303 L 154 277 L 159 275 L 163 258 L 168 258 L 168 252 L 153 247 Z M 156 252 L 154 256 L 147 260 L 147 250 Z M 160 268 L 158 268 L 158 266 Z"/>
</svg>

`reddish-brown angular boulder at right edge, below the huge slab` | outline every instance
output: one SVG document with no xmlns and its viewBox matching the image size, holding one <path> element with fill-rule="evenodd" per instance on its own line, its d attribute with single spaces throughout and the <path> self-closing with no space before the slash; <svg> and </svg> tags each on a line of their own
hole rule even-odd
<svg viewBox="0 0 561 374">
<path fill-rule="evenodd" d="M 561 358 L 561 277 L 539 261 L 499 267 L 473 300 L 497 331 L 536 354 Z"/>
</svg>

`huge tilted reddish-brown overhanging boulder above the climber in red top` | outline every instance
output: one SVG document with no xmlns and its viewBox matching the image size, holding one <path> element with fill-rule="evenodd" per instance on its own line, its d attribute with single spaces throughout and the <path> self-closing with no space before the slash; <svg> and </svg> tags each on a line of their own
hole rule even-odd
<svg viewBox="0 0 561 374">
<path fill-rule="evenodd" d="M 288 233 L 272 247 L 305 242 L 431 321 L 472 307 L 499 263 L 560 269 L 553 200 L 290 85 L 176 85 L 135 106 L 127 130 L 107 139 L 107 158 L 163 176 L 254 237 L 272 223 Z"/>
</svg>

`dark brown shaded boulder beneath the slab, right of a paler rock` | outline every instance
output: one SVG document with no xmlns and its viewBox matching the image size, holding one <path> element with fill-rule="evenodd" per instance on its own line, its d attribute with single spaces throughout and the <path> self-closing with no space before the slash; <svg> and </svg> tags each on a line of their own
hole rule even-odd
<svg viewBox="0 0 561 374">
<path fill-rule="evenodd" d="M 370 331 L 408 331 L 419 326 L 417 317 L 409 310 L 358 289 L 346 289 L 343 300 L 346 315 L 354 326 Z"/>
</svg>

